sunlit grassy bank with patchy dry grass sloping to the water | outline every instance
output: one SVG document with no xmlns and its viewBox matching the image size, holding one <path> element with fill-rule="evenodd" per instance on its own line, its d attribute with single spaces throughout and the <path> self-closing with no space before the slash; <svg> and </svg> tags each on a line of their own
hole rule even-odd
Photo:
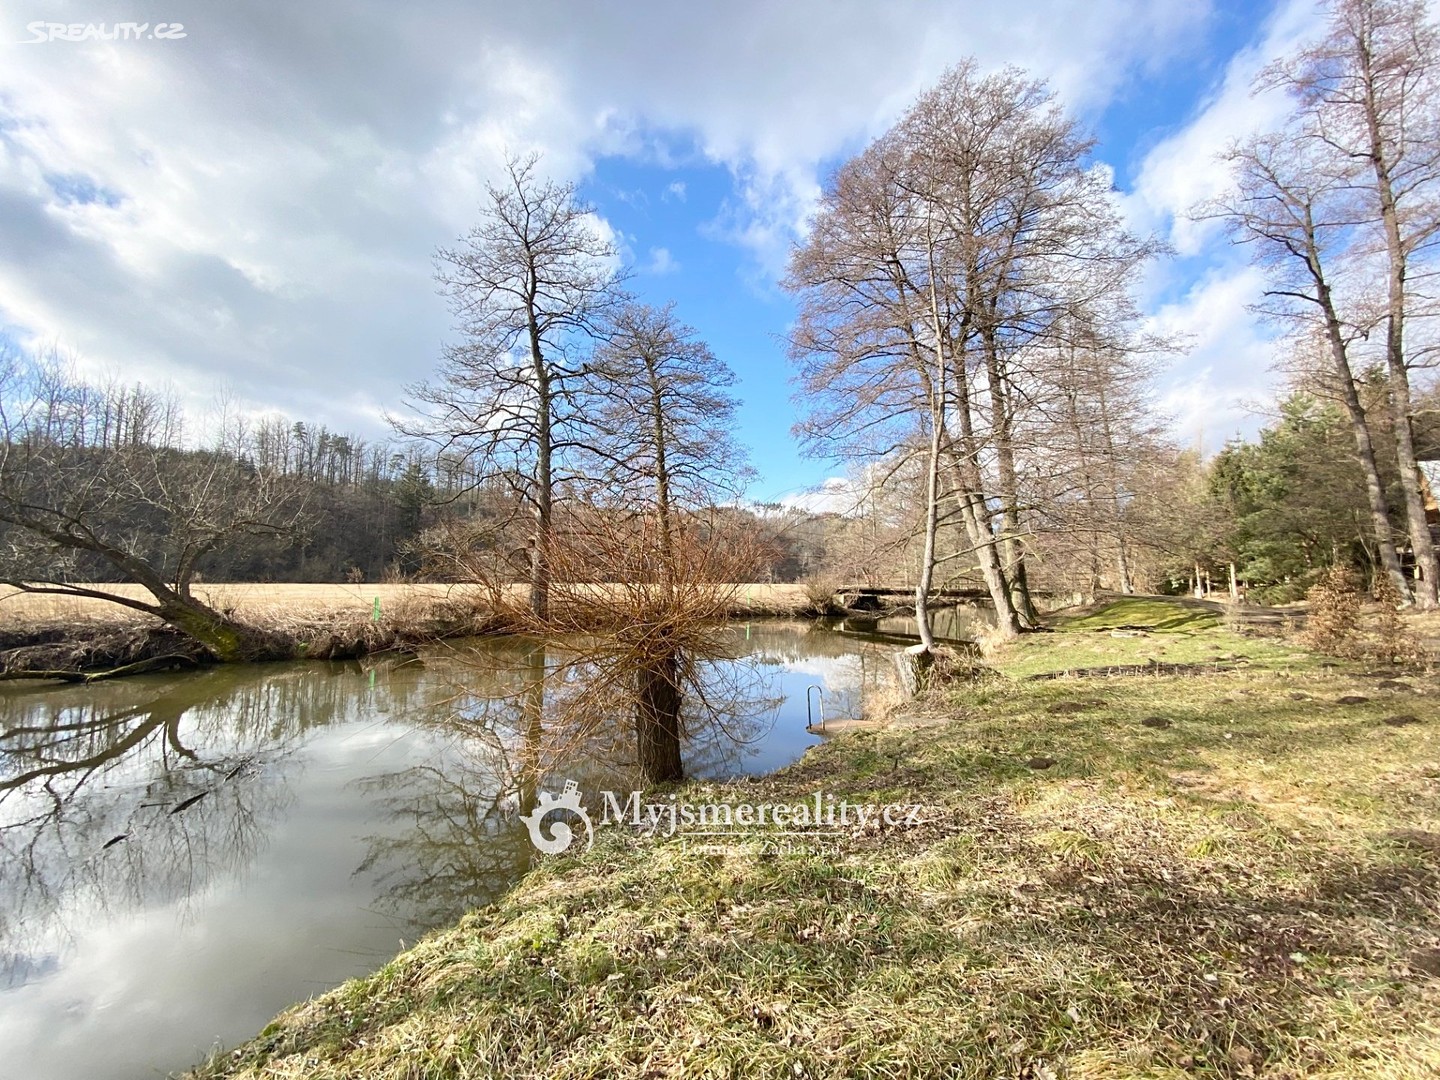
<svg viewBox="0 0 1440 1080">
<path fill-rule="evenodd" d="M 1034 678 L 1151 660 L 1192 667 Z M 600 829 L 194 1076 L 1440 1074 L 1433 674 L 1169 605 L 996 667 L 772 778 L 680 792 L 922 824 L 779 852 Z"/>
</svg>

